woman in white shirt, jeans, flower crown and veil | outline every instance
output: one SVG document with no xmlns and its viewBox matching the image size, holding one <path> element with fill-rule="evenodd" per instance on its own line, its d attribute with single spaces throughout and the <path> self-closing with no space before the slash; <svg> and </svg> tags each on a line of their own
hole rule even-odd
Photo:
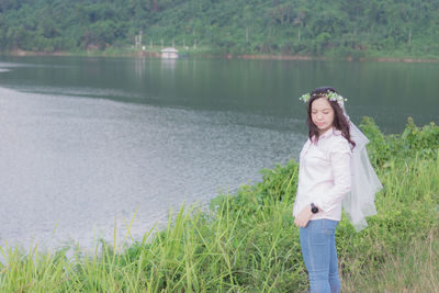
<svg viewBox="0 0 439 293">
<path fill-rule="evenodd" d="M 365 153 L 369 140 L 346 114 L 346 100 L 334 88 L 315 89 L 301 100 L 307 102 L 308 139 L 300 156 L 294 224 L 311 292 L 340 292 L 335 230 L 341 203 L 345 199 L 359 230 L 367 226 L 364 217 L 376 213 L 373 201 L 381 184 Z"/>
</svg>

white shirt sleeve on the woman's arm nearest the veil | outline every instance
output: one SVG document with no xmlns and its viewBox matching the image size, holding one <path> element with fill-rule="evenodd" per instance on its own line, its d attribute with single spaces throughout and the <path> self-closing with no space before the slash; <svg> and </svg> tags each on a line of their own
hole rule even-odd
<svg viewBox="0 0 439 293">
<path fill-rule="evenodd" d="M 350 191 L 351 185 L 351 151 L 349 143 L 335 147 L 336 151 L 329 153 L 329 161 L 334 173 L 334 185 L 327 192 L 322 194 L 314 204 L 323 212 L 329 212 L 342 201 L 345 195 Z M 346 148 L 347 146 L 347 148 Z"/>
</svg>

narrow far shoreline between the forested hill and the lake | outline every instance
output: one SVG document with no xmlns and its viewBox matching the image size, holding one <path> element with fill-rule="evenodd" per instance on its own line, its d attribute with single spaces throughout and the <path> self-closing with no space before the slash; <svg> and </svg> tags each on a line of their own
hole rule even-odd
<svg viewBox="0 0 439 293">
<path fill-rule="evenodd" d="M 257 59 L 257 60 L 346 60 L 346 61 L 384 61 L 384 63 L 439 63 L 439 58 L 416 58 L 416 57 L 329 57 L 329 56 L 311 56 L 311 55 L 270 55 L 270 54 L 243 54 L 243 55 L 215 55 L 201 52 L 182 50 L 183 55 L 199 58 L 225 58 L 225 59 Z M 14 49 L 4 52 L 3 56 L 90 56 L 90 57 L 143 57 L 143 58 L 160 58 L 158 50 L 83 50 L 83 52 L 30 52 Z"/>
</svg>

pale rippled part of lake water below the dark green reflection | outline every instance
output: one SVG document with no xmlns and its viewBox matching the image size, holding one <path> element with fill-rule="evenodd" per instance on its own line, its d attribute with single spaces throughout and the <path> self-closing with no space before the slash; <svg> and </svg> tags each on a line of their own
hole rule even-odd
<svg viewBox="0 0 439 293">
<path fill-rule="evenodd" d="M 303 124 L 221 111 L 0 89 L 2 241 L 91 247 L 137 215 L 139 238 L 170 207 L 205 205 L 295 157 Z"/>
</svg>

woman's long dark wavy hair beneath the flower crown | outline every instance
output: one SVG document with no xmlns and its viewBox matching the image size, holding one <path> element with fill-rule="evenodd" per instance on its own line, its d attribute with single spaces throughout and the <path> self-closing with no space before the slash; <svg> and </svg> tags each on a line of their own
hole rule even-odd
<svg viewBox="0 0 439 293">
<path fill-rule="evenodd" d="M 313 105 L 313 102 L 315 100 L 319 98 L 327 98 L 328 92 L 338 93 L 334 88 L 330 87 L 317 88 L 311 92 L 311 98 L 307 104 L 308 116 L 306 119 L 306 124 L 308 125 L 308 137 L 309 139 L 314 137 L 315 142 L 318 140 L 318 136 L 320 135 L 320 133 L 318 131 L 318 127 L 314 124 L 313 119 L 311 117 L 311 106 Z M 345 116 L 344 110 L 341 109 L 341 106 L 338 104 L 337 101 L 328 100 L 328 102 L 334 110 L 333 127 L 335 127 L 337 131 L 340 131 L 341 135 L 349 142 L 351 147 L 354 148 L 356 143 L 350 137 L 349 121 Z"/>
</svg>

